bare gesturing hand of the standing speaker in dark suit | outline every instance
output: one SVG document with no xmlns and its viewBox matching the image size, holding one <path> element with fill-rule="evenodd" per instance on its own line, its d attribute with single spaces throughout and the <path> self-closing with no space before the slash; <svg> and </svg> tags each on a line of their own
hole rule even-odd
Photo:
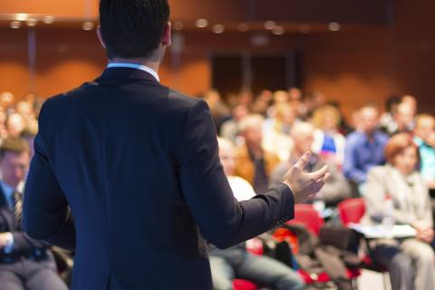
<svg viewBox="0 0 435 290">
<path fill-rule="evenodd" d="M 310 159 L 311 153 L 306 152 L 285 174 L 284 183 L 292 189 L 295 203 L 303 203 L 314 198 L 315 194 L 324 187 L 324 182 L 329 177 L 327 166 L 315 172 L 304 172 Z"/>
</svg>

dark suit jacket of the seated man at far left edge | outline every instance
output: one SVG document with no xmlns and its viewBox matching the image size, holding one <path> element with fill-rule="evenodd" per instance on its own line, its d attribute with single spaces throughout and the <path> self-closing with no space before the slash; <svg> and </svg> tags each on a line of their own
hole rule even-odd
<svg viewBox="0 0 435 290">
<path fill-rule="evenodd" d="M 1 182 L 1 181 L 0 181 Z M 0 233 L 12 233 L 14 251 L 8 255 L 0 249 L 0 260 L 6 256 L 22 256 L 34 254 L 35 250 L 45 249 L 47 245 L 28 237 L 21 227 L 15 226 L 14 211 L 7 206 L 5 192 L 0 186 Z"/>
</svg>

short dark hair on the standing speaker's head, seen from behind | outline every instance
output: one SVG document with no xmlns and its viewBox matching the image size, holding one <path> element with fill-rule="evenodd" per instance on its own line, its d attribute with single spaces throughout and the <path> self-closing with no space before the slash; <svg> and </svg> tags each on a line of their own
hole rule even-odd
<svg viewBox="0 0 435 290">
<path fill-rule="evenodd" d="M 102 39 L 109 59 L 146 58 L 169 21 L 168 0 L 101 0 Z"/>
</svg>

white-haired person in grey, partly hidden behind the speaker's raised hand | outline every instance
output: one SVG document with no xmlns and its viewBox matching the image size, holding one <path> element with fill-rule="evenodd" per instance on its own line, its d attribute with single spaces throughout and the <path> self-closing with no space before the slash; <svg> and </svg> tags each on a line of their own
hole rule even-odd
<svg viewBox="0 0 435 290">
<path fill-rule="evenodd" d="M 291 136 L 295 140 L 295 149 L 290 158 L 281 163 L 272 173 L 271 186 L 281 183 L 288 169 L 295 165 L 295 162 L 304 155 L 304 152 L 311 150 L 314 142 L 314 127 L 310 123 L 299 122 L 293 127 Z M 317 194 L 317 198 L 323 200 L 326 206 L 335 206 L 343 199 L 349 198 L 351 194 L 349 183 L 343 174 L 336 169 L 336 165 L 332 162 L 325 162 L 318 155 L 313 154 L 306 170 L 318 170 L 325 165 L 329 165 L 328 171 L 331 176 L 326 181 L 324 188 Z"/>
</svg>

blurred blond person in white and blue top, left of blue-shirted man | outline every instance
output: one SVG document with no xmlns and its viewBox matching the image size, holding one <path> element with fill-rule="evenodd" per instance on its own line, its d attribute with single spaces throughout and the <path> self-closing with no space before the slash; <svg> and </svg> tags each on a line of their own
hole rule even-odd
<svg viewBox="0 0 435 290">
<path fill-rule="evenodd" d="M 344 160 L 344 145 L 346 139 L 338 131 L 341 121 L 340 111 L 332 105 L 324 105 L 314 111 L 314 153 L 331 159 L 341 167 Z"/>
</svg>

